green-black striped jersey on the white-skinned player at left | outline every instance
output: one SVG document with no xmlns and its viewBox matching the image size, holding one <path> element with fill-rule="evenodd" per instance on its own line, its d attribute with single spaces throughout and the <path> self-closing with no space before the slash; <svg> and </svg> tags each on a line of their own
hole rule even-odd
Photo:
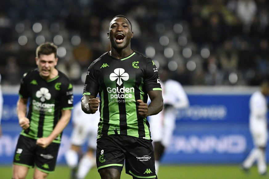
<svg viewBox="0 0 269 179">
<path fill-rule="evenodd" d="M 48 137 L 62 115 L 61 110 L 73 109 L 73 85 L 60 71 L 48 81 L 41 78 L 38 69 L 25 73 L 19 95 L 30 99 L 27 112 L 30 127 L 21 132 L 26 137 Z M 53 142 L 60 143 L 61 136 L 59 134 Z"/>
</svg>

